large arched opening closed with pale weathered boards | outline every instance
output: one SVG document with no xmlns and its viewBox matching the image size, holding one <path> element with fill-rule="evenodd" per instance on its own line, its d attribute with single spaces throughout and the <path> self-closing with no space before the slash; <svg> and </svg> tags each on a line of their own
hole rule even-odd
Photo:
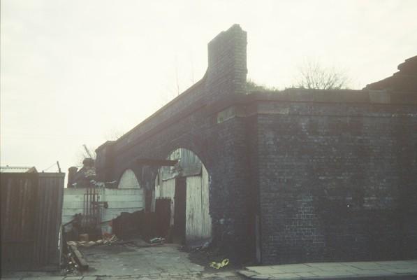
<svg viewBox="0 0 417 280">
<path fill-rule="evenodd" d="M 212 237 L 209 174 L 198 155 L 178 148 L 168 155 L 175 166 L 159 168 L 152 194 L 152 211 L 158 200 L 170 201 L 169 226 L 173 241 L 200 244 Z"/>
</svg>

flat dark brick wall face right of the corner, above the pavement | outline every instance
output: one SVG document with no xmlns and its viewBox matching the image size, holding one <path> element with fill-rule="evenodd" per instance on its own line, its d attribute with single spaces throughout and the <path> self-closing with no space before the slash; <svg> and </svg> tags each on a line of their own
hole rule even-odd
<svg viewBox="0 0 417 280">
<path fill-rule="evenodd" d="M 263 263 L 416 257 L 417 106 L 258 111 Z"/>
</svg>

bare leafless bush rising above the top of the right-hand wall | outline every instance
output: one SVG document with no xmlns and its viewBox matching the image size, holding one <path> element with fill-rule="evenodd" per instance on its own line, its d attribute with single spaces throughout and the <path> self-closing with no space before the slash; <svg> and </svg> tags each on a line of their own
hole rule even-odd
<svg viewBox="0 0 417 280">
<path fill-rule="evenodd" d="M 295 87 L 316 90 L 340 90 L 348 87 L 349 78 L 344 71 L 326 68 L 311 60 L 299 67 Z"/>
</svg>

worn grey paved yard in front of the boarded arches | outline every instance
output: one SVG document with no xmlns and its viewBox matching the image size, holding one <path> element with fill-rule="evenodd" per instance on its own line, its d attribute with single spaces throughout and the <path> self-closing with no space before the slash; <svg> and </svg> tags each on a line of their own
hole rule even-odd
<svg viewBox="0 0 417 280">
<path fill-rule="evenodd" d="M 20 272 L 6 276 L 7 280 L 132 280 L 132 279 L 244 279 L 230 269 L 207 271 L 203 265 L 191 262 L 189 253 L 176 244 L 149 246 L 133 239 L 111 246 L 78 247 L 89 264 L 78 276 L 59 276 L 46 272 Z M 208 263 L 207 263 L 208 265 Z M 8 278 L 7 278 L 8 277 Z M 3 278 L 2 278 L 3 279 Z"/>
</svg>

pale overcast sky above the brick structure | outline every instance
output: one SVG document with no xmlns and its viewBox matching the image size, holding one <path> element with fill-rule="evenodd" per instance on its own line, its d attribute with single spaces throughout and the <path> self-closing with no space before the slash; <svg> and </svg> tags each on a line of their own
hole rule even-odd
<svg viewBox="0 0 417 280">
<path fill-rule="evenodd" d="M 252 80 L 284 89 L 314 59 L 360 89 L 417 55 L 416 15 L 416 0 L 2 0 L 1 165 L 78 165 L 82 144 L 123 134 L 202 78 L 207 43 L 235 23 Z"/>
</svg>

